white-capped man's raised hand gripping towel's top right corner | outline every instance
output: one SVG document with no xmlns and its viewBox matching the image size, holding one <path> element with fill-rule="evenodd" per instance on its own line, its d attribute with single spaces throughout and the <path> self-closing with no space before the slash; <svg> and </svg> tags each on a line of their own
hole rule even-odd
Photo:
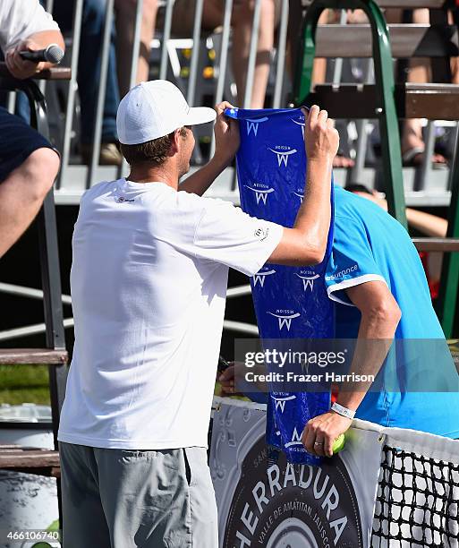
<svg viewBox="0 0 459 548">
<path fill-rule="evenodd" d="M 306 118 L 304 141 L 308 161 L 329 161 L 336 157 L 339 146 L 339 134 L 333 120 L 328 118 L 327 110 L 320 110 L 317 105 L 310 107 L 309 115 L 303 110 Z"/>
</svg>

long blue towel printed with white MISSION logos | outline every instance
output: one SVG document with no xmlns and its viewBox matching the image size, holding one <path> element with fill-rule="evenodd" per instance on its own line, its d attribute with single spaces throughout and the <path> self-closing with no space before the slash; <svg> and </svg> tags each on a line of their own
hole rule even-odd
<svg viewBox="0 0 459 548">
<path fill-rule="evenodd" d="M 304 116 L 297 109 L 227 109 L 240 121 L 237 176 L 241 207 L 250 215 L 293 227 L 302 204 L 306 176 Z M 255 313 L 263 345 L 268 339 L 333 338 L 334 308 L 327 297 L 325 268 L 333 244 L 332 223 L 324 261 L 314 267 L 266 264 L 251 278 Z M 276 343 L 278 344 L 278 343 Z M 295 344 L 297 348 L 297 344 Z M 327 412 L 329 393 L 270 392 L 267 443 L 293 463 L 319 464 L 302 446 L 311 417 Z"/>
</svg>

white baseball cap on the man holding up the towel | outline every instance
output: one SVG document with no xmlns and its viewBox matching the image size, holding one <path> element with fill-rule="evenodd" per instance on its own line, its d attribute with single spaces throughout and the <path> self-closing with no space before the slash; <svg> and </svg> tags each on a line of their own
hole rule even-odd
<svg viewBox="0 0 459 548">
<path fill-rule="evenodd" d="M 139 144 L 164 137 L 183 125 L 216 119 L 213 108 L 189 107 L 181 90 L 170 81 L 144 81 L 125 95 L 116 114 L 118 139 Z"/>
</svg>

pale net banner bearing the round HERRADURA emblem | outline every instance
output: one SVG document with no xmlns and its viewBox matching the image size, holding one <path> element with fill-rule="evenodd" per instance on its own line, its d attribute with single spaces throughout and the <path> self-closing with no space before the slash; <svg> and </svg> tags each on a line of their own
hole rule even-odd
<svg viewBox="0 0 459 548">
<path fill-rule="evenodd" d="M 369 548 L 384 436 L 351 429 L 320 467 L 268 467 L 264 406 L 217 404 L 209 465 L 220 548 Z"/>
</svg>

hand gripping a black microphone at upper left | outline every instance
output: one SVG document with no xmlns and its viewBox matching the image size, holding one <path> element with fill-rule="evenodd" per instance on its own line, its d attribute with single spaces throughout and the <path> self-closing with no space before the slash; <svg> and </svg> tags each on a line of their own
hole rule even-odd
<svg viewBox="0 0 459 548">
<path fill-rule="evenodd" d="M 5 53 L 5 63 L 15 78 L 24 80 L 46 68 L 46 63 L 57 64 L 62 61 L 64 51 L 57 44 L 43 48 L 33 39 L 21 41 Z"/>
</svg>

